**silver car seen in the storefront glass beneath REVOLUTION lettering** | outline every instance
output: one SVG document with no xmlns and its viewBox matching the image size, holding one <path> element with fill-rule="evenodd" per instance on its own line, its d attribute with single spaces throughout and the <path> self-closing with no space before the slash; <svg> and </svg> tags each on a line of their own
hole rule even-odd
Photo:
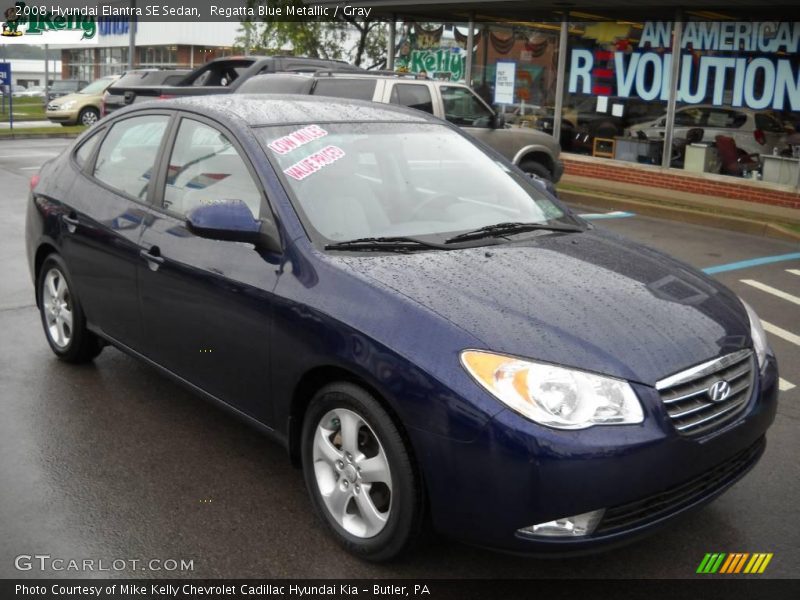
<svg viewBox="0 0 800 600">
<path fill-rule="evenodd" d="M 666 116 L 634 125 L 630 133 L 642 131 L 648 138 L 664 137 Z M 713 142 L 718 135 L 732 137 L 736 147 L 747 154 L 772 154 L 786 147 L 786 129 L 771 111 L 692 104 L 675 111 L 675 136 L 685 138 L 690 129 L 701 128 L 703 141 Z"/>
</svg>

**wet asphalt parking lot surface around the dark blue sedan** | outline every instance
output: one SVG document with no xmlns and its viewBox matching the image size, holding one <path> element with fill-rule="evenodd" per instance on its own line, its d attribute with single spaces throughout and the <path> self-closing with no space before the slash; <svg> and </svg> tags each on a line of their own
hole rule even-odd
<svg viewBox="0 0 800 600">
<path fill-rule="evenodd" d="M 636 215 L 596 220 L 712 269 L 766 323 L 781 367 L 778 416 L 764 458 L 721 498 L 600 555 L 531 559 L 435 539 L 371 565 L 325 534 L 300 472 L 268 439 L 116 350 L 83 367 L 52 355 L 25 262 L 24 207 L 30 176 L 67 143 L 0 142 L 0 577 L 87 575 L 14 568 L 18 555 L 48 554 L 193 561 L 173 577 L 683 578 L 707 552 L 771 552 L 764 577 L 798 576 L 800 256 L 753 260 L 797 254 L 797 244 Z"/>
</svg>

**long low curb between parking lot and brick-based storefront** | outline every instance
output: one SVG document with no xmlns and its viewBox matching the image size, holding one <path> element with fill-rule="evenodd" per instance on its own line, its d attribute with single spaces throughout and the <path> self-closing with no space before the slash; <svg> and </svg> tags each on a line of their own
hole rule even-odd
<svg viewBox="0 0 800 600">
<path fill-rule="evenodd" d="M 667 206 L 654 202 L 643 202 L 631 200 L 618 196 L 603 196 L 586 191 L 559 190 L 558 196 L 565 202 L 574 202 L 581 206 L 592 208 L 626 210 L 639 215 L 648 217 L 659 217 L 689 223 L 692 225 L 704 225 L 716 229 L 727 229 L 739 233 L 747 233 L 761 237 L 776 238 L 791 242 L 800 242 L 800 233 L 765 221 L 755 221 L 745 217 L 731 215 L 721 215 L 717 213 L 703 212 L 676 206 Z"/>
</svg>

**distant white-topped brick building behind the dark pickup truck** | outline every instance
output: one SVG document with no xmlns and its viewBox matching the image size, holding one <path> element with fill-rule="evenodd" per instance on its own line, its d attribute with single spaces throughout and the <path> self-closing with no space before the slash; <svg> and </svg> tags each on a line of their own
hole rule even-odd
<svg viewBox="0 0 800 600">
<path fill-rule="evenodd" d="M 92 81 L 127 69 L 131 27 L 135 30 L 135 67 L 193 69 L 213 58 L 231 54 L 241 25 L 233 21 L 103 19 L 98 22 L 96 45 L 52 46 L 61 49 L 62 79 Z"/>
</svg>

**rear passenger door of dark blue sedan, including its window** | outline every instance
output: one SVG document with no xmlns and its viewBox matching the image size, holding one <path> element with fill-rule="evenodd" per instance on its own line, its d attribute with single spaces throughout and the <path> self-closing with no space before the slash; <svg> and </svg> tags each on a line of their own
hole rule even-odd
<svg viewBox="0 0 800 600">
<path fill-rule="evenodd" d="M 62 252 L 89 322 L 139 350 L 139 237 L 155 159 L 171 114 L 137 113 L 99 130 L 76 151 Z"/>
</svg>

